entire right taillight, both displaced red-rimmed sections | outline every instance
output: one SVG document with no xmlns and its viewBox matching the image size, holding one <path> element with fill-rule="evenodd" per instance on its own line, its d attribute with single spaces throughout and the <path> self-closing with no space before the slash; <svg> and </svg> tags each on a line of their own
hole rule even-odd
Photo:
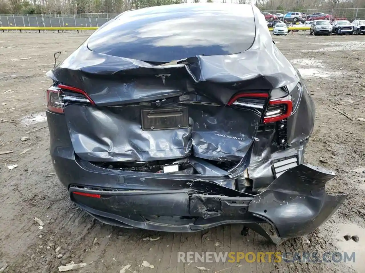
<svg viewBox="0 0 365 273">
<path fill-rule="evenodd" d="M 264 109 L 269 98 L 268 93 L 242 93 L 234 95 L 228 106 Z M 288 118 L 292 114 L 293 102 L 289 96 L 281 99 L 270 99 L 265 110 L 263 123 L 276 122 Z"/>
</svg>

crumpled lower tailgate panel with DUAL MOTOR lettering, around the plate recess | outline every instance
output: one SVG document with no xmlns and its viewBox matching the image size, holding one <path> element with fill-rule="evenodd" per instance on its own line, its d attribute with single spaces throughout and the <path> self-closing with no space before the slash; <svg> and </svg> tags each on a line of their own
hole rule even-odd
<svg viewBox="0 0 365 273">
<path fill-rule="evenodd" d="M 240 161 L 254 140 L 260 120 L 253 111 L 193 106 L 188 107 L 188 128 L 143 131 L 143 108 L 148 107 L 66 107 L 76 154 L 88 161 L 152 161 L 188 155 Z"/>
</svg>

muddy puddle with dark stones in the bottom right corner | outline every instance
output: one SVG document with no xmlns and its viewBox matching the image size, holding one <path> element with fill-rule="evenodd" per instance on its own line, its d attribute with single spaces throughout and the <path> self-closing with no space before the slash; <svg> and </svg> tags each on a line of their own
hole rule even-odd
<svg viewBox="0 0 365 273">
<path fill-rule="evenodd" d="M 353 252 L 355 252 L 355 262 L 353 260 L 347 261 L 346 265 L 352 266 L 357 272 L 365 272 L 365 248 L 364 242 L 365 240 L 365 229 L 354 224 L 340 224 L 338 225 L 339 232 L 336 236 L 337 239 L 337 246 L 341 252 L 347 252 L 348 256 L 350 257 Z M 350 239 L 346 241 L 343 236 L 346 234 L 350 234 L 351 236 L 357 235 L 359 236 L 360 240 L 358 242 L 353 241 Z"/>
</svg>

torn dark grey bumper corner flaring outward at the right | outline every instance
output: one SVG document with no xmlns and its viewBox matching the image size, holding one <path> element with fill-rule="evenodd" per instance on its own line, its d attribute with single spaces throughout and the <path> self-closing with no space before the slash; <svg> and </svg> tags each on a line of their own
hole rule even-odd
<svg viewBox="0 0 365 273">
<path fill-rule="evenodd" d="M 348 194 L 327 194 L 334 172 L 301 164 L 280 175 L 256 195 L 249 211 L 271 222 L 280 238 L 304 236 L 327 221 Z"/>
</svg>

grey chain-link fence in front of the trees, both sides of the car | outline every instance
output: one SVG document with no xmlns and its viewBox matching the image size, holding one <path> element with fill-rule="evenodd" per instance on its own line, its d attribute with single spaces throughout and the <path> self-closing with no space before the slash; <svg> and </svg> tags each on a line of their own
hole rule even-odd
<svg viewBox="0 0 365 273">
<path fill-rule="evenodd" d="M 288 13 L 293 10 L 265 11 L 272 14 Z M 322 12 L 334 18 L 346 18 L 350 22 L 365 19 L 365 8 L 306 9 L 306 15 Z M 0 27 L 100 27 L 119 13 L 39 13 L 0 15 Z"/>
</svg>

